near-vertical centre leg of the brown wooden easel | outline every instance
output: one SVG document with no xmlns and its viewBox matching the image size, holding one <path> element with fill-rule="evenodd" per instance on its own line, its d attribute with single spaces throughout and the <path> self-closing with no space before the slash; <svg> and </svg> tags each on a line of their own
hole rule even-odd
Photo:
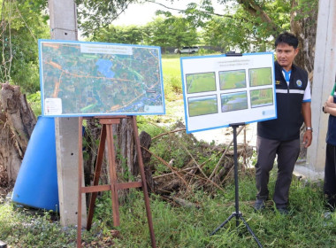
<svg viewBox="0 0 336 248">
<path fill-rule="evenodd" d="M 107 128 L 107 146 L 108 146 L 110 182 L 111 182 L 113 225 L 115 227 L 118 227 L 120 226 L 120 218 L 119 218 L 118 190 L 116 188 L 117 184 L 116 154 L 113 145 L 114 140 L 113 140 L 112 125 L 106 125 L 106 128 Z"/>
</svg>

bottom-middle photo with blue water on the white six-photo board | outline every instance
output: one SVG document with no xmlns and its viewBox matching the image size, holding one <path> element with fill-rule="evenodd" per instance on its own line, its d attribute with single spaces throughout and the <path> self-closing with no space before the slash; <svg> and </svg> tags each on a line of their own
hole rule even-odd
<svg viewBox="0 0 336 248">
<path fill-rule="evenodd" d="M 222 112 L 237 111 L 248 108 L 248 95 L 246 91 L 221 94 Z"/>
</svg>

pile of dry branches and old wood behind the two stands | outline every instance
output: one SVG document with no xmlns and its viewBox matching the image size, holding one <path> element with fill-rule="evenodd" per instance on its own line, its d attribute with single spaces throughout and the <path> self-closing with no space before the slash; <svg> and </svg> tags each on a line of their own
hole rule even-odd
<svg viewBox="0 0 336 248">
<path fill-rule="evenodd" d="M 116 125 L 115 148 L 118 153 L 118 180 L 136 181 L 139 178 L 138 167 L 136 163 L 136 151 L 124 151 L 123 143 L 129 141 L 129 130 L 122 128 L 122 123 Z M 146 180 L 149 185 L 149 191 L 163 196 L 163 198 L 172 199 L 178 205 L 183 204 L 184 198 L 195 190 L 202 189 L 208 192 L 223 190 L 225 182 L 231 179 L 233 174 L 233 141 L 231 143 L 215 145 L 199 142 L 195 136 L 186 133 L 186 128 L 181 122 L 177 122 L 171 129 L 160 128 L 154 123 L 153 128 L 160 131 L 157 136 L 149 136 L 142 131 L 140 135 L 142 159 L 145 165 Z M 95 167 L 95 151 L 97 138 L 99 138 L 100 127 L 96 123 L 88 123 L 86 131 L 86 144 L 88 150 L 86 153 L 90 167 L 86 178 L 92 179 Z M 237 134 L 239 135 L 243 127 Z M 122 139 L 126 139 L 123 143 Z M 91 150 L 92 148 L 92 150 Z M 251 146 L 241 144 L 238 148 L 238 157 L 240 159 L 240 169 L 244 170 L 251 159 L 253 149 Z M 106 156 L 106 152 L 105 152 Z M 131 162 L 130 162 L 131 159 Z M 103 162 L 103 172 L 101 174 L 101 183 L 109 182 L 107 173 L 107 159 Z M 131 164 L 131 166 L 130 166 Z M 104 173 L 105 171 L 105 173 Z M 89 181 L 89 180 L 88 180 Z M 90 182 L 87 182 L 89 184 Z M 119 190 L 121 191 L 121 190 Z M 119 198 L 126 195 L 125 192 L 119 192 Z"/>
</svg>

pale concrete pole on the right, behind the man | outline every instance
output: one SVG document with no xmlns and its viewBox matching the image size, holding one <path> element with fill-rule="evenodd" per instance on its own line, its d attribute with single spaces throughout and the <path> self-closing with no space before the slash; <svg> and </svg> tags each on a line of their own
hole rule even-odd
<svg viewBox="0 0 336 248">
<path fill-rule="evenodd" d="M 319 0 L 317 43 L 312 87 L 313 141 L 308 149 L 306 173 L 310 178 L 322 177 L 325 169 L 325 135 L 328 114 L 322 106 L 330 96 L 336 73 L 336 1 Z"/>
</svg>

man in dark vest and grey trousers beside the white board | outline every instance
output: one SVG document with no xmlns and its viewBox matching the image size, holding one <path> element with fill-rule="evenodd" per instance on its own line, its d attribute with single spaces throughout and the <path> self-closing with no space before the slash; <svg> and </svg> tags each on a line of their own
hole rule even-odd
<svg viewBox="0 0 336 248">
<path fill-rule="evenodd" d="M 265 207 L 268 199 L 270 171 L 278 155 L 278 176 L 273 201 L 279 213 L 288 213 L 289 187 L 296 159 L 300 153 L 300 128 L 306 125 L 303 145 L 312 139 L 310 88 L 308 74 L 293 64 L 299 49 L 298 39 L 289 33 L 275 41 L 277 61 L 274 63 L 278 118 L 257 124 L 256 151 L 256 211 Z"/>
</svg>

